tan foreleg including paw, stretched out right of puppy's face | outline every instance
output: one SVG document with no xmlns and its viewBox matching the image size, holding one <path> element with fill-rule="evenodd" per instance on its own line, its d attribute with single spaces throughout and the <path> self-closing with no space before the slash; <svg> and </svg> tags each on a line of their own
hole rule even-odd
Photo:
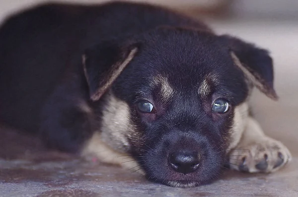
<svg viewBox="0 0 298 197">
<path fill-rule="evenodd" d="M 248 117 L 242 138 L 228 158 L 231 169 L 269 173 L 289 162 L 291 153 L 280 141 L 266 136 L 257 121 Z"/>
</svg>

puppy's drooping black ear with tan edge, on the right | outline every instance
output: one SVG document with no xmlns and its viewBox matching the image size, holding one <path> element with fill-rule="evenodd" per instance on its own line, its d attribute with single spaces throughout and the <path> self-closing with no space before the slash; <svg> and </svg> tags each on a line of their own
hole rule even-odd
<svg viewBox="0 0 298 197">
<path fill-rule="evenodd" d="M 229 47 L 235 65 L 243 71 L 246 78 L 266 96 L 277 100 L 273 86 L 273 61 L 268 51 L 228 35 L 221 37 Z"/>
</svg>

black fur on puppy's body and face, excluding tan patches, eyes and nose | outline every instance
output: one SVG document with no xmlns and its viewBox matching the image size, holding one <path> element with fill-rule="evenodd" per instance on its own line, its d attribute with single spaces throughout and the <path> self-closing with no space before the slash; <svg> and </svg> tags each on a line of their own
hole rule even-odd
<svg viewBox="0 0 298 197">
<path fill-rule="evenodd" d="M 41 5 L 8 18 L 0 29 L 0 46 L 2 121 L 39 133 L 49 147 L 77 152 L 101 127 L 104 92 L 110 89 L 128 104 L 138 129 L 138 138 L 128 136 L 128 152 L 148 178 L 171 186 L 171 181 L 180 187 L 209 183 L 222 170 L 233 107 L 249 93 L 230 51 L 273 90 L 272 61 L 266 51 L 146 4 Z M 105 87 L 118 69 L 112 66 L 133 48 L 138 49 L 136 56 L 112 86 Z M 209 74 L 217 83 L 202 99 L 198 89 Z M 174 87 L 172 99 L 162 100 L 162 87 L 153 83 L 156 76 Z M 225 114 L 211 111 L 219 97 L 230 102 Z M 142 100 L 153 104 L 154 113 L 137 110 Z M 82 111 L 80 102 L 92 113 Z M 199 151 L 199 169 L 186 175 L 173 171 L 167 158 L 177 149 Z"/>
</svg>

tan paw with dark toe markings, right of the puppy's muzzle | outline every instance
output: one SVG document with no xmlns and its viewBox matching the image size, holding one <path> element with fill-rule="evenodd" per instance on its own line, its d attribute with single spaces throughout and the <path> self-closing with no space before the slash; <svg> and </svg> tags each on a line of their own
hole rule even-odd
<svg viewBox="0 0 298 197">
<path fill-rule="evenodd" d="M 230 168 L 242 172 L 275 172 L 291 161 L 291 153 L 280 141 L 270 137 L 241 145 L 229 153 Z"/>
</svg>

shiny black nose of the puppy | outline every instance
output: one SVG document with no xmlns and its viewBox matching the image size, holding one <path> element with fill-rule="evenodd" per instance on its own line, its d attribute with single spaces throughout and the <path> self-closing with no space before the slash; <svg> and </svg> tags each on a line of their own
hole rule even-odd
<svg viewBox="0 0 298 197">
<path fill-rule="evenodd" d="M 187 174 L 198 169 L 201 155 L 197 151 L 177 151 L 170 154 L 169 161 L 175 171 Z"/>
</svg>

